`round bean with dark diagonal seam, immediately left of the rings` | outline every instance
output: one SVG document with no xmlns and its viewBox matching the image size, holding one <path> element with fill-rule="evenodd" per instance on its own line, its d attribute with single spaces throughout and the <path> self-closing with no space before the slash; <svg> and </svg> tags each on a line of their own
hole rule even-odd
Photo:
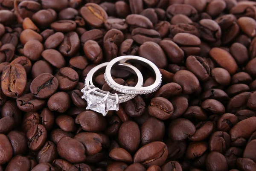
<svg viewBox="0 0 256 171">
<path fill-rule="evenodd" d="M 79 81 L 78 73 L 69 67 L 61 68 L 56 74 L 60 90 L 72 90 Z"/>
</svg>

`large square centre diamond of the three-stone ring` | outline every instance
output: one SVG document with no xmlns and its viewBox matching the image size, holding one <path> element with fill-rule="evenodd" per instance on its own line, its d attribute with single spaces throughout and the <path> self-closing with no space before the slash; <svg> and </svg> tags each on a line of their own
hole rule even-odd
<svg viewBox="0 0 256 171">
<path fill-rule="evenodd" d="M 92 94 L 88 94 L 86 101 L 87 101 L 87 109 L 102 113 L 103 115 L 106 114 L 106 106 L 105 102 L 101 101 L 102 98 L 98 96 L 94 96 Z"/>
</svg>

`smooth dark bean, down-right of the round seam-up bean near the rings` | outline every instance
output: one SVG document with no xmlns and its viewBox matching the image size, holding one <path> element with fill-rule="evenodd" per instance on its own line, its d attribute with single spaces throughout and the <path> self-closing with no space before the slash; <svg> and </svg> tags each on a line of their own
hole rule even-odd
<svg viewBox="0 0 256 171">
<path fill-rule="evenodd" d="M 195 126 L 187 119 L 175 119 L 169 125 L 168 136 L 176 141 L 184 140 L 194 133 Z"/>
</svg>

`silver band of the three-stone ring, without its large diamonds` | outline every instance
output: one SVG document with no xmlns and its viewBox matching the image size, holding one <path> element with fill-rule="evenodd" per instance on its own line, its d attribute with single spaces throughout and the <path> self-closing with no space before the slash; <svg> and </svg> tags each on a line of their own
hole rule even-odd
<svg viewBox="0 0 256 171">
<path fill-rule="evenodd" d="M 99 64 L 97 65 L 96 67 L 94 67 L 93 69 L 90 70 L 90 72 L 88 72 L 87 74 L 87 77 L 84 81 L 84 84 L 85 84 L 85 87 L 88 87 L 88 90 L 92 89 L 91 87 L 89 86 L 94 86 L 93 85 L 93 75 L 95 72 L 97 72 L 98 70 L 100 70 L 101 68 L 103 67 L 106 67 L 107 65 L 109 64 L 109 62 L 105 62 L 103 64 Z M 122 63 L 122 64 L 119 64 L 119 66 L 122 66 L 122 70 L 128 70 L 130 72 L 134 72 L 135 74 L 137 74 L 137 77 L 138 77 L 138 82 L 136 84 L 135 87 L 141 87 L 143 86 L 143 76 L 140 72 L 140 70 L 138 70 L 136 67 L 134 67 L 133 65 L 131 64 L 127 64 L 127 63 Z M 129 70 L 129 69 L 130 70 Z M 112 77 L 111 77 L 112 78 Z M 114 81 L 115 82 L 115 81 Z M 95 93 L 96 95 L 99 95 L 99 96 L 105 96 L 108 92 L 107 91 L 103 91 L 103 90 L 100 90 L 100 89 L 97 89 L 97 90 L 94 90 L 93 93 Z M 122 102 L 125 102 L 125 101 L 128 101 L 132 98 L 134 98 L 136 95 L 130 95 L 130 94 L 118 94 L 119 96 L 119 103 L 122 103 Z M 113 94 L 113 93 L 110 93 L 109 97 L 110 99 L 116 99 L 116 95 Z"/>
</svg>

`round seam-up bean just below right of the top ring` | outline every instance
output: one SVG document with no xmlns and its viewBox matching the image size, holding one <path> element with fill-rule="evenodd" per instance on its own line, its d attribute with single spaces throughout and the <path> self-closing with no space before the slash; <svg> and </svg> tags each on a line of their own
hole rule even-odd
<svg viewBox="0 0 256 171">
<path fill-rule="evenodd" d="M 163 97 L 153 98 L 148 106 L 148 113 L 161 120 L 170 118 L 173 110 L 172 103 Z"/>
</svg>

